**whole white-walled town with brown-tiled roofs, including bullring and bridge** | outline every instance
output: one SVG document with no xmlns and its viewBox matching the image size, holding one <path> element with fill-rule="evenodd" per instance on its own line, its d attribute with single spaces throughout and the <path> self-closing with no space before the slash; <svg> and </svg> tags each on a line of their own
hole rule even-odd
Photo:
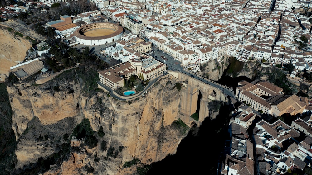
<svg viewBox="0 0 312 175">
<path fill-rule="evenodd" d="M 131 105 L 147 98 L 160 80 L 168 79 L 168 85 L 174 77 L 170 90 L 183 94 L 175 107 L 189 127 L 213 118 L 211 101 L 231 109 L 213 174 L 312 174 L 310 1 L 29 0 L 1 5 L 1 28 L 15 32 L 14 38 L 28 31 L 25 38 L 32 43 L 25 59 L 9 66 L 16 83 L 31 77 L 40 86 L 63 72 L 85 69 L 95 75 L 94 94 L 104 92 Z M 239 72 L 228 73 L 231 64 L 244 65 L 239 71 L 251 69 L 252 75 L 246 75 L 251 81 L 222 83 L 223 73 L 235 78 Z M 272 78 L 278 74 L 274 71 L 284 79 Z"/>
</svg>

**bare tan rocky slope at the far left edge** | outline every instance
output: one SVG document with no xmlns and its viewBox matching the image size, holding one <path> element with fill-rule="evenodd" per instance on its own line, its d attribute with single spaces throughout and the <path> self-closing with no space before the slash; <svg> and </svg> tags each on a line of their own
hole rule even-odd
<svg viewBox="0 0 312 175">
<path fill-rule="evenodd" d="M 32 47 L 31 42 L 25 37 L 14 36 L 14 33 L 5 28 L 2 25 L 0 27 L 0 81 L 5 80 L 10 73 L 10 67 L 25 59 L 26 51 Z"/>
</svg>

